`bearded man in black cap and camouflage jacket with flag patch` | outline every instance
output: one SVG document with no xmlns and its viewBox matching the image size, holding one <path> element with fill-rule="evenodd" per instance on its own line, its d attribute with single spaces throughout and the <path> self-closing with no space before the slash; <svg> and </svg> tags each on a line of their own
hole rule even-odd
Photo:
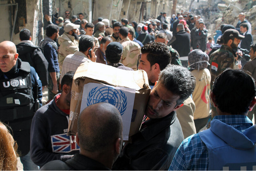
<svg viewBox="0 0 256 171">
<path fill-rule="evenodd" d="M 210 56 L 211 89 L 213 81 L 219 74 L 225 71 L 226 68 L 234 69 L 236 54 L 233 49 L 237 48 L 243 38 L 244 36 L 240 35 L 236 29 L 228 29 L 223 33 L 224 44 Z M 213 118 L 217 115 L 217 111 L 212 101 L 211 106 Z"/>
</svg>

